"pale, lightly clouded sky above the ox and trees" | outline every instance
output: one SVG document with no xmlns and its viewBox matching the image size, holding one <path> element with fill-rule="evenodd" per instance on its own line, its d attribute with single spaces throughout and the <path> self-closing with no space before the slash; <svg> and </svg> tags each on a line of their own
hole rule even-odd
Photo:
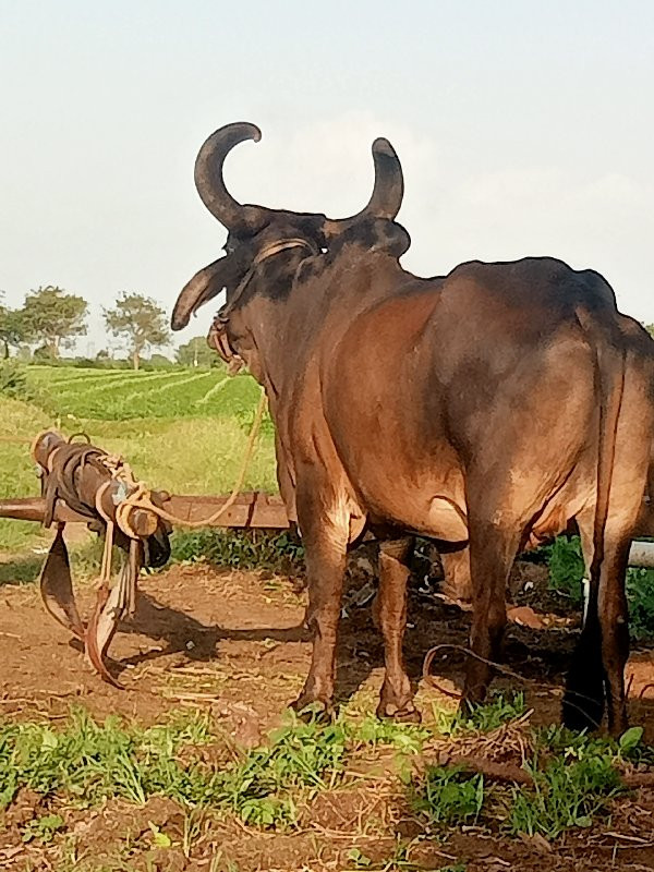
<svg viewBox="0 0 654 872">
<path fill-rule="evenodd" d="M 0 0 L 0 289 L 168 310 L 223 241 L 193 185 L 204 138 L 251 202 L 356 211 L 370 146 L 404 168 L 403 263 L 550 254 L 654 322 L 654 2 Z M 182 340 L 204 334 L 198 315 Z"/>
</svg>

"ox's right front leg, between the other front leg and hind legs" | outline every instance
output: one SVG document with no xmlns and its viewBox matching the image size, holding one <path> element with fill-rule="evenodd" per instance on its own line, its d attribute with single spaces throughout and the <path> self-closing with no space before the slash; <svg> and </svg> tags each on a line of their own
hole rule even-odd
<svg viewBox="0 0 654 872">
<path fill-rule="evenodd" d="M 384 635 L 386 675 L 377 717 L 416 723 L 420 713 L 413 705 L 413 691 L 402 657 L 407 627 L 407 564 L 412 550 L 412 538 L 384 542 L 379 547 L 379 593 L 375 600 L 375 613 Z"/>
</svg>

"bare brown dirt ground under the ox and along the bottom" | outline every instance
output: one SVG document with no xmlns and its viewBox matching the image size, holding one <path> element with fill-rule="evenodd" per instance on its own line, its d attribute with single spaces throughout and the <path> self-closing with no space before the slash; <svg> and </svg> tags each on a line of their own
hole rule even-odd
<svg viewBox="0 0 654 872">
<path fill-rule="evenodd" d="M 510 625 L 506 663 L 524 678 L 532 723 L 558 719 L 561 679 L 573 642 L 570 618 L 556 611 L 542 590 L 543 569 L 524 565 L 517 571 L 518 601 L 534 607 L 542 629 Z M 355 600 L 365 579 L 355 578 L 347 617 L 342 621 L 338 695 L 354 698 L 363 710 L 374 711 L 382 681 L 382 645 L 370 603 Z M 310 644 L 302 629 L 304 593 L 301 581 L 265 573 L 228 572 L 205 567 L 178 566 L 142 580 L 138 613 L 111 646 L 124 691 L 102 683 L 84 665 L 68 633 L 48 619 L 34 586 L 0 589 L 0 716 L 4 718 L 64 717 L 71 703 L 95 715 L 123 714 L 143 723 L 161 718 L 171 708 L 209 710 L 217 726 L 238 742 L 252 746 L 279 723 L 287 703 L 299 692 L 310 662 Z M 428 585 L 427 585 L 428 586 Z M 84 595 L 88 605 L 90 590 Z M 365 596 L 359 596 L 365 598 Z M 469 616 L 440 603 L 424 581 L 414 579 L 407 631 L 410 674 L 419 682 L 419 705 L 432 701 L 453 705 L 420 681 L 427 649 L 452 642 L 465 644 Z M 460 687 L 462 659 L 444 654 L 434 674 L 446 690 Z M 629 664 L 630 715 L 654 741 L 654 652 L 633 651 Z M 504 679 L 499 685 L 514 686 Z M 383 763 L 383 761 L 382 761 Z M 324 792 L 303 815 L 299 832 L 270 834 L 242 824 L 207 825 L 196 855 L 150 850 L 147 864 L 135 855 L 125 869 L 148 870 L 347 870 L 352 848 L 372 858 L 374 869 L 392 857 L 396 836 L 417 835 L 401 795 L 379 792 L 374 780 L 365 788 Z M 37 813 L 38 797 L 20 795 L 0 818 L 0 868 L 7 870 L 59 869 L 53 848 L 23 845 L 17 826 Z M 76 816 L 75 816 L 76 815 Z M 150 800 L 144 808 L 109 802 L 104 808 L 74 812 L 66 820 L 77 836 L 80 857 L 101 858 L 128 828 L 137 840 L 150 823 L 167 832 L 182 827 L 179 809 L 167 800 Z M 374 826 L 362 826 L 375 821 Z M 136 834 L 136 835 L 134 835 Z M 213 858 L 213 859 L 211 859 Z M 217 859 L 218 858 L 218 859 Z M 650 870 L 654 869 L 654 791 L 641 789 L 616 804 L 602 826 L 577 831 L 549 845 L 542 839 L 500 838 L 481 828 L 428 835 L 415 843 L 410 860 L 424 869 L 456 863 L 480 870 Z M 144 862 L 144 861 L 143 861 Z M 55 863 L 55 864 L 53 864 Z M 141 864 L 140 864 L 141 863 Z"/>
</svg>

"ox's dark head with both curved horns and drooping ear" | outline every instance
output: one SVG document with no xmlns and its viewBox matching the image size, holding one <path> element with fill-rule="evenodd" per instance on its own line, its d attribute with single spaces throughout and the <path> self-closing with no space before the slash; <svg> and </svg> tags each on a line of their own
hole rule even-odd
<svg viewBox="0 0 654 872">
<path fill-rule="evenodd" d="M 207 209 L 228 230 L 226 253 L 193 276 L 172 313 L 172 329 L 180 330 L 199 306 L 225 289 L 227 303 L 217 315 L 209 342 L 228 362 L 235 358 L 228 322 L 233 325 L 234 312 L 252 299 L 256 284 L 253 279 L 264 268 L 264 262 L 266 269 L 274 261 L 278 265 L 279 275 L 268 274 L 266 284 L 282 292 L 302 261 L 343 241 L 359 241 L 367 247 L 395 247 L 397 256 L 409 247 L 407 231 L 393 222 L 404 186 L 400 161 L 387 140 L 373 143 L 375 184 L 368 204 L 350 218 L 331 220 L 320 214 L 242 205 L 232 197 L 222 175 L 225 159 L 235 145 L 246 140 L 258 142 L 261 135 L 254 124 L 228 124 L 213 133 L 199 149 L 195 185 Z M 274 257 L 282 252 L 283 258 Z"/>
</svg>

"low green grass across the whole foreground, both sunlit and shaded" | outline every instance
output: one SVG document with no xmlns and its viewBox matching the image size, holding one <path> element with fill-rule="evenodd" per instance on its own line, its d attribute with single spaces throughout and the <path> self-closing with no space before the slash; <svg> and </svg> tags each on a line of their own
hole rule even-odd
<svg viewBox="0 0 654 872">
<path fill-rule="evenodd" d="M 488 715 L 483 723 L 493 720 Z M 98 723 L 84 710 L 73 711 L 57 727 L 0 722 L 0 809 L 21 788 L 44 798 L 43 816 L 23 832 L 26 841 L 53 838 L 62 828 L 58 814 L 65 806 L 98 807 L 112 798 L 143 806 L 156 796 L 178 802 L 191 823 L 210 811 L 283 831 L 300 822 L 315 794 L 347 788 L 352 760 L 370 760 L 371 752 L 385 746 L 400 755 L 398 763 L 405 763 L 407 753 L 421 754 L 440 735 L 435 729 L 435 724 L 416 727 L 372 717 L 340 716 L 331 724 L 289 717 L 266 744 L 234 754 L 214 732 L 209 716 L 173 715 L 149 728 L 118 718 Z M 526 747 L 535 750 L 523 766 L 534 778 L 533 788 L 487 783 L 457 766 L 427 764 L 412 773 L 398 765 L 392 777 L 404 784 L 427 832 L 476 825 L 553 839 L 588 827 L 605 813 L 623 790 L 619 766 L 626 760 L 642 763 L 650 753 L 641 737 L 639 728 L 617 743 L 560 727 L 530 731 Z M 362 784 L 366 776 L 356 778 Z M 409 863 L 405 852 L 386 862 L 391 860 L 396 865 L 380 868 L 409 868 L 400 862 Z M 364 855 L 359 861 L 365 865 Z"/>
</svg>

